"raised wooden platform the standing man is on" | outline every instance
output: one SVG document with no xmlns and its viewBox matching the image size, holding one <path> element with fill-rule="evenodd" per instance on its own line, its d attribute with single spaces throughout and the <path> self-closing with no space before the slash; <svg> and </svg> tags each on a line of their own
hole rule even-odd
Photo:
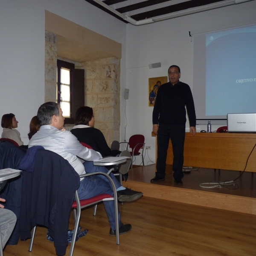
<svg viewBox="0 0 256 256">
<path fill-rule="evenodd" d="M 185 174 L 183 186 L 177 186 L 172 177 L 172 166 L 166 166 L 164 181 L 150 183 L 155 176 L 155 164 L 129 171 L 128 181 L 123 186 L 142 191 L 144 196 L 169 201 L 194 204 L 204 207 L 243 212 L 256 215 L 256 176 L 244 172 L 237 180 L 237 186 L 204 189 L 200 183 L 234 180 L 242 172 L 221 170 L 220 176 L 214 169 L 200 168 Z"/>
</svg>

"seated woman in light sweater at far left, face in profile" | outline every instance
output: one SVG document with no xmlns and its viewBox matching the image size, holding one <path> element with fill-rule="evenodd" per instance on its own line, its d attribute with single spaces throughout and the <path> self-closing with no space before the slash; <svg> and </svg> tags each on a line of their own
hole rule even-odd
<svg viewBox="0 0 256 256">
<path fill-rule="evenodd" d="M 1 138 L 14 140 L 19 146 L 23 145 L 20 133 L 15 129 L 18 127 L 18 121 L 13 113 L 2 116 L 1 126 L 3 127 Z"/>
</svg>

